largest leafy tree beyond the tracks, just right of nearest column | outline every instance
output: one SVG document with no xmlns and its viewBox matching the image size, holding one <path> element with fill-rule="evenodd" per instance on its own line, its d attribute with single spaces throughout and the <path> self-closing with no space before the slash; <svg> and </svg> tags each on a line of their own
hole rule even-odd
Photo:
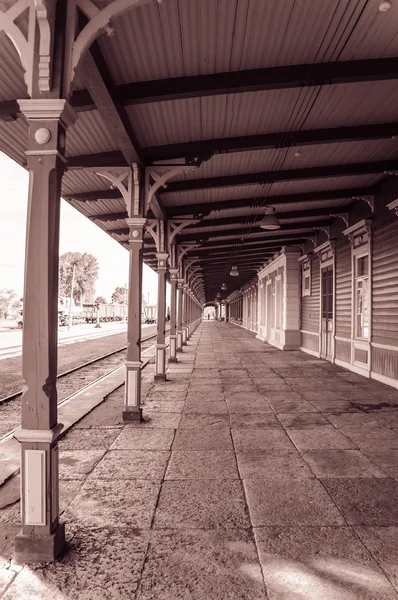
<svg viewBox="0 0 398 600">
<path fill-rule="evenodd" d="M 59 259 L 59 295 L 70 296 L 72 288 L 73 267 L 75 281 L 73 298 L 76 304 L 92 302 L 95 282 L 98 279 L 98 260 L 88 252 L 65 252 Z"/>
</svg>

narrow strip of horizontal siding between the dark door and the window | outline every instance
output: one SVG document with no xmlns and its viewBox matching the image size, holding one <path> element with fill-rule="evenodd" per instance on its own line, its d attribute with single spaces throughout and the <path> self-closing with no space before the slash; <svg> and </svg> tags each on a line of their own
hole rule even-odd
<svg viewBox="0 0 398 600">
<path fill-rule="evenodd" d="M 336 248 L 336 336 L 351 338 L 351 244 L 349 240 Z"/>
</svg>

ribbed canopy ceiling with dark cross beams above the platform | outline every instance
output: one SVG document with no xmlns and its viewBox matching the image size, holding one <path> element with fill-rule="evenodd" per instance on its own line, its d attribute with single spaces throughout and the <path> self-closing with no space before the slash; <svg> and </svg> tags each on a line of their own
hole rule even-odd
<svg viewBox="0 0 398 600">
<path fill-rule="evenodd" d="M 21 32 L 28 4 L 3 3 Z M 148 216 L 196 220 L 175 239 L 199 257 L 202 302 L 224 281 L 224 297 L 242 286 L 282 246 L 329 226 L 398 170 L 394 3 L 387 12 L 378 0 L 68 5 L 77 31 L 88 20 L 92 30 L 68 95 L 78 119 L 67 132 L 63 197 L 127 247 L 125 201 L 99 170 L 186 165 L 159 187 Z M 0 147 L 26 165 L 24 61 L 6 36 L 0 62 Z M 276 232 L 259 228 L 266 205 L 279 216 Z M 144 259 L 156 268 L 155 254 L 147 232 Z"/>
</svg>

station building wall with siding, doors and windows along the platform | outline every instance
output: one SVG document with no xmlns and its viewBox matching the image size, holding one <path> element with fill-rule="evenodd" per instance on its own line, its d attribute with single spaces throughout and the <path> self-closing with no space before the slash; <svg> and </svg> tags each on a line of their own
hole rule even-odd
<svg viewBox="0 0 398 600">
<path fill-rule="evenodd" d="M 269 262 L 258 274 L 257 296 L 243 295 L 244 314 L 257 302 L 257 322 L 247 318 L 243 326 L 278 348 L 301 349 L 398 388 L 397 198 L 392 176 L 375 193 L 374 216 L 358 201 L 346 222 L 334 220 L 330 242 L 318 237 L 299 258 L 288 250 Z"/>
</svg>

